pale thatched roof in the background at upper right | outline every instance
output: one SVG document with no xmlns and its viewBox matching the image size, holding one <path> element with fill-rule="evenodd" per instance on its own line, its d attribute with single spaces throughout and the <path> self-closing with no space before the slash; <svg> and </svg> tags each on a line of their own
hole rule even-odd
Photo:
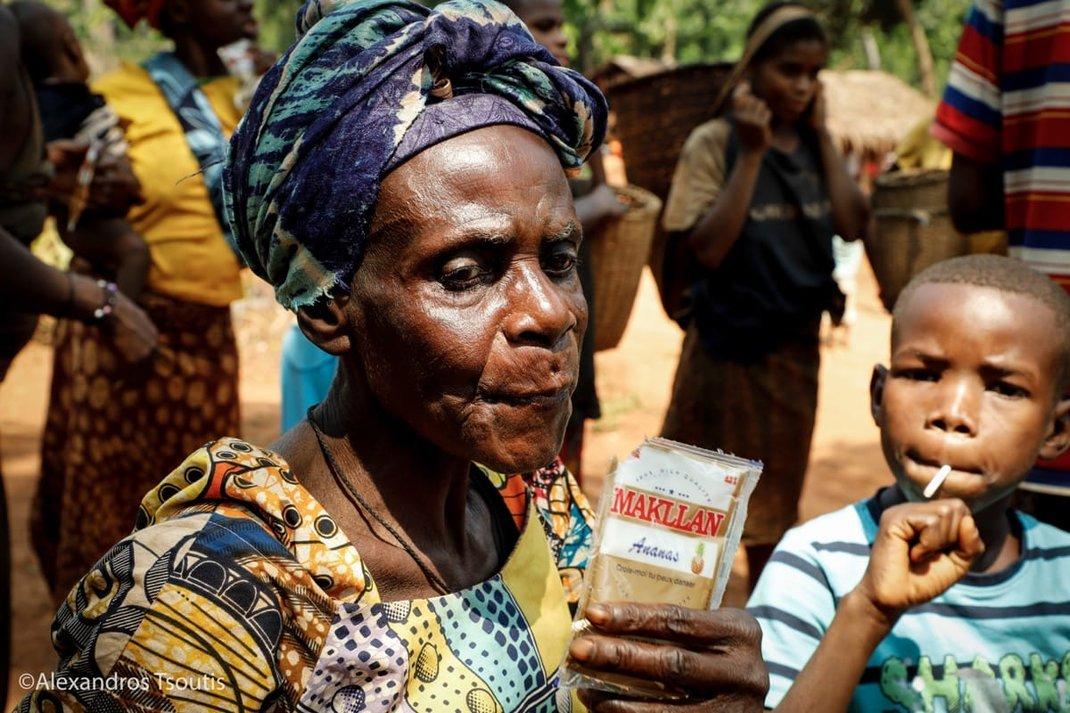
<svg viewBox="0 0 1070 713">
<path fill-rule="evenodd" d="M 884 155 L 918 122 L 933 116 L 933 102 L 887 72 L 826 70 L 821 78 L 828 128 L 844 152 Z"/>
</svg>

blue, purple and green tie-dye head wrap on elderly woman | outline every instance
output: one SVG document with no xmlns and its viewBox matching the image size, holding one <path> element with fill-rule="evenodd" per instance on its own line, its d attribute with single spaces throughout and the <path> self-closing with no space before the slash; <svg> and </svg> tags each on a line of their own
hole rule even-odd
<svg viewBox="0 0 1070 713">
<path fill-rule="evenodd" d="M 310 0 L 225 170 L 238 249 L 282 306 L 348 289 L 386 173 L 459 134 L 513 124 L 566 168 L 602 139 L 606 100 L 504 5 Z"/>
</svg>

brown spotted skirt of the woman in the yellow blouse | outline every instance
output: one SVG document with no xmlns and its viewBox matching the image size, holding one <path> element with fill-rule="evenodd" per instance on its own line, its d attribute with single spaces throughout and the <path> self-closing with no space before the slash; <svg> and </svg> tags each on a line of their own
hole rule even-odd
<svg viewBox="0 0 1070 713">
<path fill-rule="evenodd" d="M 241 423 L 230 307 L 154 293 L 141 304 L 159 330 L 143 364 L 124 363 L 97 327 L 58 329 L 30 522 L 57 602 L 129 534 L 160 472 Z"/>
</svg>

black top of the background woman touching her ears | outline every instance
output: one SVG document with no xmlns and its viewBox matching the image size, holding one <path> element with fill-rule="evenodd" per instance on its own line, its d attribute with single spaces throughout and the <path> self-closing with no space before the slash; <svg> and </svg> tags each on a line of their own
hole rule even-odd
<svg viewBox="0 0 1070 713">
<path fill-rule="evenodd" d="M 738 153 L 735 128 L 725 176 Z M 758 361 L 789 340 L 815 340 L 823 312 L 842 309 L 832 279 L 831 206 L 812 135 L 766 151 L 743 233 L 693 288 L 693 318 L 716 356 Z"/>
</svg>

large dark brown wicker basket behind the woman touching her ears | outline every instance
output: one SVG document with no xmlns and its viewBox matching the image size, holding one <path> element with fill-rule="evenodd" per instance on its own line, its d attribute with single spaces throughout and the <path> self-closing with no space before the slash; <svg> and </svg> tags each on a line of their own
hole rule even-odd
<svg viewBox="0 0 1070 713">
<path fill-rule="evenodd" d="M 626 81 L 607 91 L 616 116 L 614 133 L 621 140 L 628 180 L 662 201 L 684 141 L 696 126 L 715 116 L 715 103 L 732 71 L 729 63 L 691 64 Z M 686 286 L 677 259 L 664 260 L 667 236 L 660 222 L 652 241 L 651 270 L 661 304 L 670 315 L 679 307 Z"/>
</svg>

